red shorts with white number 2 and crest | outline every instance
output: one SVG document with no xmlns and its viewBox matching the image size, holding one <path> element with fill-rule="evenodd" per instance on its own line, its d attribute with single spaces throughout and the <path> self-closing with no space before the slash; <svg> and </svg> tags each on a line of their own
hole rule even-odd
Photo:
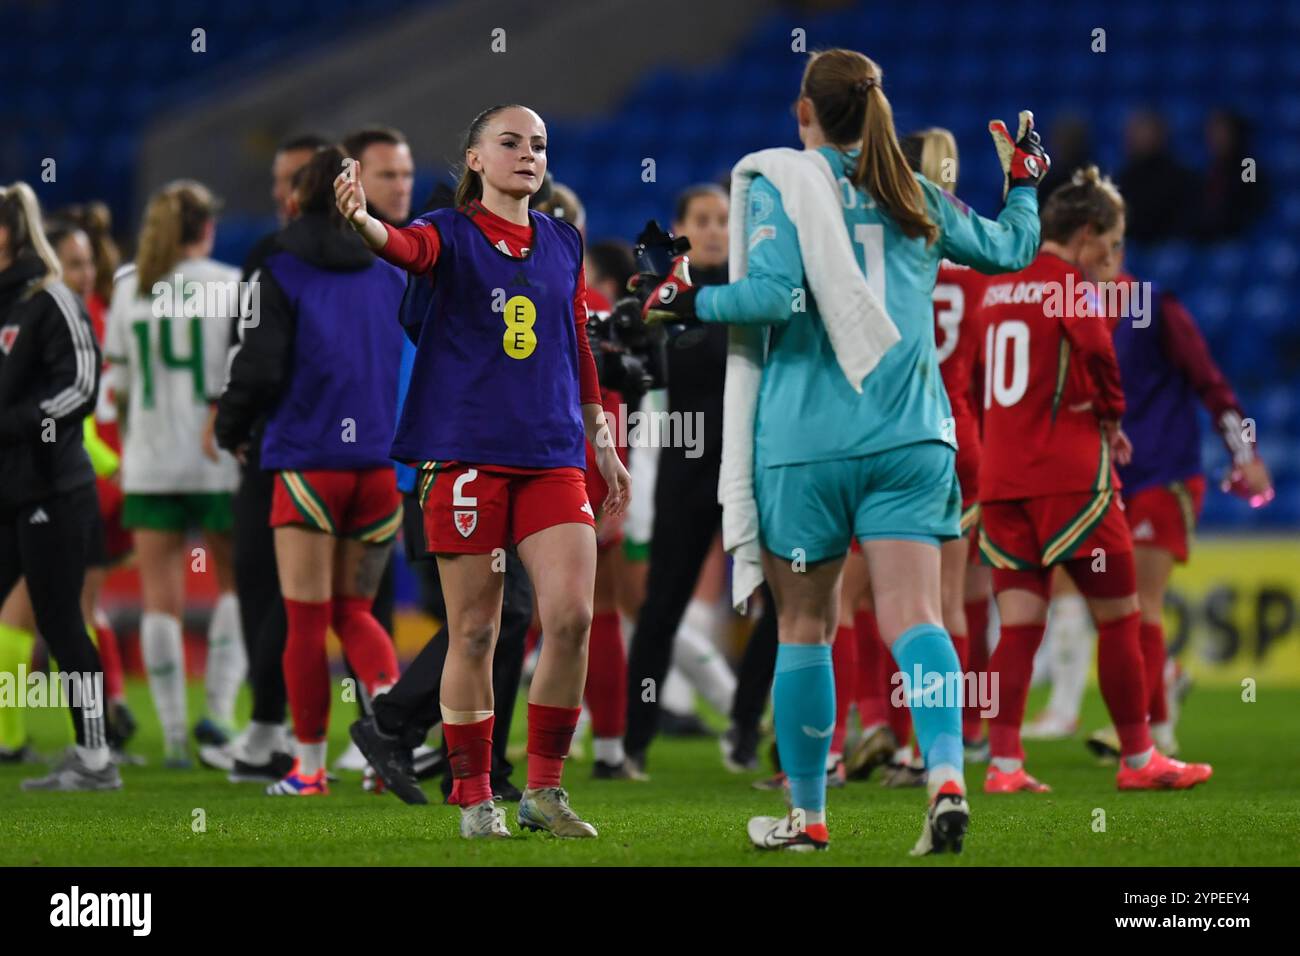
<svg viewBox="0 0 1300 956">
<path fill-rule="evenodd" d="M 452 464 L 420 472 L 424 536 L 434 554 L 491 554 L 556 524 L 595 527 L 581 468 L 514 473 Z"/>
</svg>

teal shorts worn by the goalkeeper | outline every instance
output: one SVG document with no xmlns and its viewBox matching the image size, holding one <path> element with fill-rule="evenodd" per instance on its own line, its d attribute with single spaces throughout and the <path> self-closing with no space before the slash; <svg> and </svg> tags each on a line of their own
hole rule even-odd
<svg viewBox="0 0 1300 956">
<path fill-rule="evenodd" d="M 933 545 L 954 538 L 962 520 L 956 457 L 944 442 L 927 441 L 833 462 L 755 463 L 763 546 L 812 563 L 844 555 L 853 537 Z"/>
</svg>

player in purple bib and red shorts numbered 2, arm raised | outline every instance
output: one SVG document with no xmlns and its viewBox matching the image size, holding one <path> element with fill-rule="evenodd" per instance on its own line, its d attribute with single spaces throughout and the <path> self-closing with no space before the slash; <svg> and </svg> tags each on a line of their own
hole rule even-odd
<svg viewBox="0 0 1300 956">
<path fill-rule="evenodd" d="M 465 838 L 508 838 L 493 804 L 491 657 L 503 575 L 515 545 L 545 635 L 528 702 L 528 788 L 519 823 L 595 836 L 560 786 L 586 680 L 595 580 L 595 514 L 585 444 L 616 518 L 630 494 L 601 407 L 586 339 L 582 241 L 530 212 L 546 174 L 546 126 L 532 109 L 485 109 L 469 125 L 456 208 L 394 229 L 365 212 L 352 170 L 335 181 L 343 216 L 384 259 L 432 285 L 407 334 L 411 385 L 391 455 L 420 468 L 429 551 L 447 602 L 443 735 Z"/>
</svg>

